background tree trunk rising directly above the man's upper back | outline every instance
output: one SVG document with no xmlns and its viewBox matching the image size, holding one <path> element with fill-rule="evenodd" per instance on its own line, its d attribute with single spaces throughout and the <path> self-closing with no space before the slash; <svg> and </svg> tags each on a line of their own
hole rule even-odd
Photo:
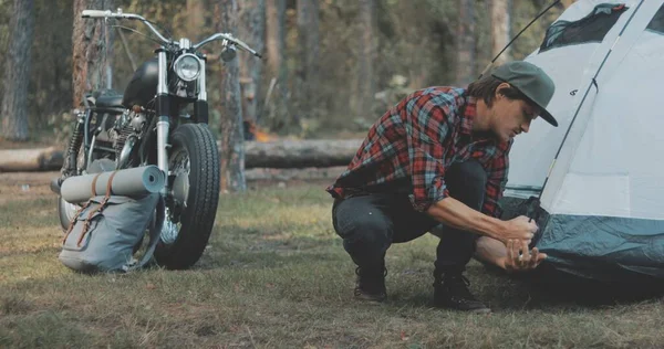
<svg viewBox="0 0 664 349">
<path fill-rule="evenodd" d="M 458 1 L 457 23 L 457 76 L 456 83 L 465 87 L 477 76 L 475 68 L 475 11 L 474 0 Z"/>
</svg>

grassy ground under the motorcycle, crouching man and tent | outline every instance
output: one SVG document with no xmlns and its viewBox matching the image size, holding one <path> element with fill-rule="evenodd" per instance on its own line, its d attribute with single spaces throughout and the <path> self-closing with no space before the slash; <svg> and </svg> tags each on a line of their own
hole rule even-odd
<svg viewBox="0 0 664 349">
<path fill-rule="evenodd" d="M 0 205 L 0 348 L 656 348 L 664 302 L 588 305 L 468 267 L 491 315 L 429 307 L 436 237 L 394 245 L 388 299 L 352 300 L 354 266 L 319 184 L 222 195 L 189 271 L 74 274 L 55 200 Z"/>
</svg>

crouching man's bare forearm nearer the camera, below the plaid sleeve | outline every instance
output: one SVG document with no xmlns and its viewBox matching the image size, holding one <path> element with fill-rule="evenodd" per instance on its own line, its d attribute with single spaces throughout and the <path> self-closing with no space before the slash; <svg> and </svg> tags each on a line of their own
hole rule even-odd
<svg viewBox="0 0 664 349">
<path fill-rule="evenodd" d="M 507 229 L 504 221 L 475 211 L 454 198 L 445 198 L 426 211 L 438 222 L 480 235 L 496 237 Z"/>
</svg>

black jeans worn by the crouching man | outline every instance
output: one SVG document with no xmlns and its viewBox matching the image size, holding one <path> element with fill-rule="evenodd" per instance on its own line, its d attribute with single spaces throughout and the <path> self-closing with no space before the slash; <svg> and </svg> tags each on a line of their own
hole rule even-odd
<svg viewBox="0 0 664 349">
<path fill-rule="evenodd" d="M 445 174 L 449 195 L 480 210 L 487 173 L 477 161 L 450 166 Z M 417 239 L 440 224 L 413 209 L 407 194 L 365 193 L 336 200 L 332 208 L 334 230 L 357 266 L 378 268 L 393 243 Z M 475 252 L 478 235 L 443 226 L 436 251 L 435 273 L 463 272 Z"/>
</svg>

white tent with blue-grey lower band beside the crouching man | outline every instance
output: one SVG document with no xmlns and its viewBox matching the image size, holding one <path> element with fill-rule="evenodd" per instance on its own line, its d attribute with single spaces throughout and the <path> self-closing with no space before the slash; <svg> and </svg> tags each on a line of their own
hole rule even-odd
<svg viewBox="0 0 664 349">
<path fill-rule="evenodd" d="M 560 126 L 517 138 L 506 197 L 541 193 L 557 268 L 664 279 L 664 0 L 577 1 L 526 60 L 554 81 Z"/>
</svg>

